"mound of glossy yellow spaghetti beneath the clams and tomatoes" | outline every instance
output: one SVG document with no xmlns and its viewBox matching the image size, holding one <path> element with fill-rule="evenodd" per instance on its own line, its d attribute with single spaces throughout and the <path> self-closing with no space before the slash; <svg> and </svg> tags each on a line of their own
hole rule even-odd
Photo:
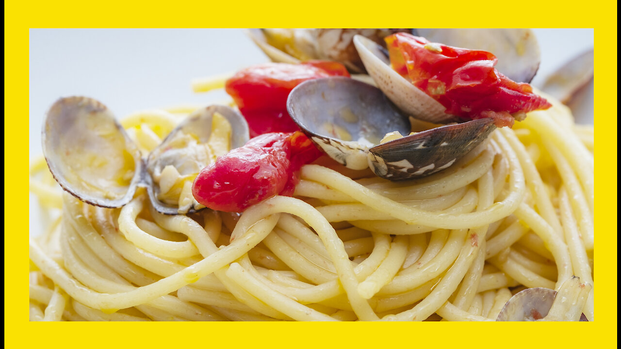
<svg viewBox="0 0 621 349">
<path fill-rule="evenodd" d="M 148 151 L 179 119 L 122 124 Z M 428 178 L 329 167 L 242 215 L 186 216 L 140 190 L 89 206 L 35 163 L 51 223 L 30 239 L 30 319 L 495 320 L 520 289 L 593 284 L 593 132 L 558 103 Z M 593 291 L 577 306 L 593 320 Z"/>
</svg>

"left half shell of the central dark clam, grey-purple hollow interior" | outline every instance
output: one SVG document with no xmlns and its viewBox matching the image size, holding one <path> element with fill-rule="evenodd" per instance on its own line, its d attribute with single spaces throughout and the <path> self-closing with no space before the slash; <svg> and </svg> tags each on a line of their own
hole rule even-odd
<svg viewBox="0 0 621 349">
<path fill-rule="evenodd" d="M 299 84 L 289 93 L 287 111 L 317 147 L 352 170 L 368 167 L 366 152 L 387 132 L 410 131 L 407 116 L 379 89 L 344 77 Z"/>
</svg>

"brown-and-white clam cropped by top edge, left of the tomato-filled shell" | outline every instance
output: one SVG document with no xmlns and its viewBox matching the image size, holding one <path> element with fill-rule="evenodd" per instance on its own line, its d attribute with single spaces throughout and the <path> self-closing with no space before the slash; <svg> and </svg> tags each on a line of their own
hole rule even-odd
<svg viewBox="0 0 621 349">
<path fill-rule="evenodd" d="M 383 45 L 384 37 L 396 32 L 412 29 L 250 29 L 248 35 L 275 62 L 332 60 L 352 73 L 364 73 L 365 66 L 352 42 L 354 35 Z"/>
</svg>

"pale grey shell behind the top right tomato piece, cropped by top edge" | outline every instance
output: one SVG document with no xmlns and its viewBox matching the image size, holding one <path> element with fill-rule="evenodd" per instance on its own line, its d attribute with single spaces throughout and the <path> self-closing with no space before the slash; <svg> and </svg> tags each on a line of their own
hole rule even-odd
<svg viewBox="0 0 621 349">
<path fill-rule="evenodd" d="M 430 42 L 494 53 L 496 69 L 519 83 L 530 83 L 541 62 L 531 29 L 417 29 L 417 35 Z"/>
</svg>

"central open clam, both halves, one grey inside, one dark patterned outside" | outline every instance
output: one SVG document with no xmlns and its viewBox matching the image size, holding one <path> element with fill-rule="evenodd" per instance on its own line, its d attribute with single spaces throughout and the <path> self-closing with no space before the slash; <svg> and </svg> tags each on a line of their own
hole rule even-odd
<svg viewBox="0 0 621 349">
<path fill-rule="evenodd" d="M 331 158 L 353 170 L 369 167 L 392 181 L 448 168 L 496 128 L 486 118 L 408 135 L 408 114 L 378 88 L 343 77 L 299 84 L 289 94 L 287 110 Z M 384 135 L 395 131 L 406 136 L 381 143 Z"/>
</svg>

